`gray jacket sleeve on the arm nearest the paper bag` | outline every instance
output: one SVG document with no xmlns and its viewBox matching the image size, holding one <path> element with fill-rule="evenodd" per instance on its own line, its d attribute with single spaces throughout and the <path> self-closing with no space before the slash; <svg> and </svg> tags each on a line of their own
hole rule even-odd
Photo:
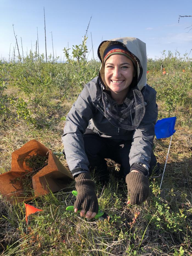
<svg viewBox="0 0 192 256">
<path fill-rule="evenodd" d="M 89 84 L 87 85 L 89 86 Z M 62 135 L 67 164 L 73 176 L 89 171 L 87 167 L 89 161 L 84 150 L 83 134 L 96 110 L 87 85 L 85 85 L 70 109 Z"/>
</svg>

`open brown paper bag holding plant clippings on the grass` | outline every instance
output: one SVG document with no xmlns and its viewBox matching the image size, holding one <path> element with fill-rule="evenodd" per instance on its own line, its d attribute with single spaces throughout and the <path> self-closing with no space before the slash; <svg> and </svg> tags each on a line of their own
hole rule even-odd
<svg viewBox="0 0 192 256">
<path fill-rule="evenodd" d="M 32 177 L 33 191 L 26 190 L 25 179 L 32 168 L 24 161 L 26 157 L 39 154 L 48 157 L 48 164 Z M 74 180 L 71 173 L 55 157 L 53 152 L 37 140 L 30 140 L 12 153 L 11 170 L 0 175 L 0 192 L 12 204 L 28 201 L 40 195 L 64 189 Z M 25 190 L 24 190 L 25 187 Z"/>
</svg>

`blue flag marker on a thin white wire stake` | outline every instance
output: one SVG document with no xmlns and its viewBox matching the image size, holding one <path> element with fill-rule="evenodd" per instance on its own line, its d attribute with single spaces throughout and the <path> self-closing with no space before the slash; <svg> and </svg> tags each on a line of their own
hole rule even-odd
<svg viewBox="0 0 192 256">
<path fill-rule="evenodd" d="M 172 140 L 173 134 L 175 133 L 175 129 L 174 129 L 175 128 L 175 122 L 176 122 L 176 116 L 175 117 L 163 118 L 161 120 L 158 120 L 156 125 L 155 125 L 156 138 L 157 139 L 163 139 L 163 138 L 168 138 L 168 137 L 171 136 L 171 140 Z M 170 144 L 169 144 L 169 149 L 168 149 L 168 153 L 167 153 L 165 167 L 166 167 L 168 154 L 169 154 L 169 150 L 170 150 L 170 146 L 171 146 L 171 140 L 170 140 Z M 160 188 L 161 188 L 164 173 L 165 173 L 165 167 L 164 167 L 164 170 L 163 170 L 163 175 L 162 175 L 162 179 L 161 179 Z"/>
</svg>

